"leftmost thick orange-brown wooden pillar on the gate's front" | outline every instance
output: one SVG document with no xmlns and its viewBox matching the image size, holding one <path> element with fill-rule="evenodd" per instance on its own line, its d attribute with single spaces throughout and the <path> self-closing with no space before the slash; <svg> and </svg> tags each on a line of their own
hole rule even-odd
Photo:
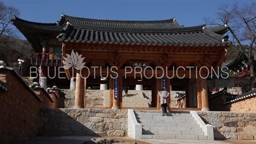
<svg viewBox="0 0 256 144">
<path fill-rule="evenodd" d="M 82 93 L 81 93 L 81 76 L 80 73 L 76 73 L 76 94 L 75 94 L 75 106 L 74 108 L 83 108 L 82 106 Z"/>
</svg>

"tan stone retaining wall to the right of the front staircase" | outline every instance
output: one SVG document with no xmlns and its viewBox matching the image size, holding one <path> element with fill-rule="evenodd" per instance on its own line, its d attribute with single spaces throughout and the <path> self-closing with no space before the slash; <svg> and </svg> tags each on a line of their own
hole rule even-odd
<svg viewBox="0 0 256 144">
<path fill-rule="evenodd" d="M 215 140 L 256 140 L 256 113 L 197 111 L 206 124 L 215 127 Z"/>
</svg>

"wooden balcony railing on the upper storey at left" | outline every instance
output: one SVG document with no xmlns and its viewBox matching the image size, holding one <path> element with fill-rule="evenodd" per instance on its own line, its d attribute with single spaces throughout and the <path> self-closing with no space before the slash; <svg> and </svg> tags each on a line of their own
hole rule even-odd
<svg viewBox="0 0 256 144">
<path fill-rule="evenodd" d="M 31 53 L 31 64 L 36 67 L 61 67 L 62 54 L 56 53 Z"/>
</svg>

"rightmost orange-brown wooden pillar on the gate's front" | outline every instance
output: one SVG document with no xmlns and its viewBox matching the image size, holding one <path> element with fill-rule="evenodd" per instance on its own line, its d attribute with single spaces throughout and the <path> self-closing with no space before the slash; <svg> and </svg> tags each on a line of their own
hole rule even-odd
<svg viewBox="0 0 256 144">
<path fill-rule="evenodd" d="M 201 111 L 209 111 L 208 93 L 207 93 L 207 81 L 206 79 L 201 79 L 202 86 L 202 109 Z"/>
</svg>

